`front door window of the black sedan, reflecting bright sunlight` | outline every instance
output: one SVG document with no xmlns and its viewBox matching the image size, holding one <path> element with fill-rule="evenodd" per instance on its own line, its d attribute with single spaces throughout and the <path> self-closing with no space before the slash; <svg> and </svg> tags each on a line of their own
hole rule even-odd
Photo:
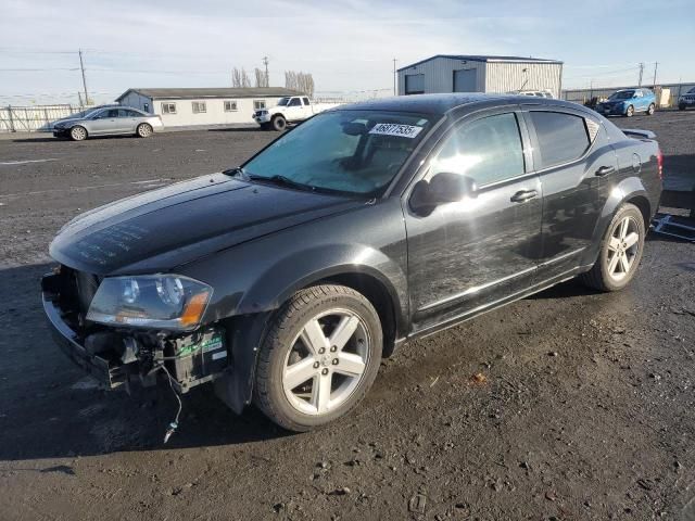
<svg viewBox="0 0 695 521">
<path fill-rule="evenodd" d="M 478 187 L 522 175 L 523 145 L 516 115 L 497 114 L 454 128 L 432 158 L 428 177 L 442 171 L 468 176 Z"/>
</svg>

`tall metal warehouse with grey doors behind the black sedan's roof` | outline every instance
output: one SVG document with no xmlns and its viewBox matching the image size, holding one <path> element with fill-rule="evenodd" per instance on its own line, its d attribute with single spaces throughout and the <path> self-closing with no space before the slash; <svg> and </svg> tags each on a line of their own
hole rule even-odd
<svg viewBox="0 0 695 521">
<path fill-rule="evenodd" d="M 438 54 L 397 71 L 399 94 L 549 90 L 560 97 L 563 62 L 539 58 Z"/>
</svg>

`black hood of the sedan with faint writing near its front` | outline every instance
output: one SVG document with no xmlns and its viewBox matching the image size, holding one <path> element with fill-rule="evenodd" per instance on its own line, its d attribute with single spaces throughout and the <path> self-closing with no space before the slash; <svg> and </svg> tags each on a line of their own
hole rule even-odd
<svg viewBox="0 0 695 521">
<path fill-rule="evenodd" d="M 55 260 L 105 276 L 163 272 L 364 202 L 203 176 L 81 214 L 50 245 Z"/>
</svg>

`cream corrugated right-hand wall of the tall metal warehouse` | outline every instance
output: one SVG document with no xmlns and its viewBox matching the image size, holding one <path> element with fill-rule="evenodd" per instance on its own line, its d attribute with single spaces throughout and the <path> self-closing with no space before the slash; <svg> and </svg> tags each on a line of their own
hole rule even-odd
<svg viewBox="0 0 695 521">
<path fill-rule="evenodd" d="M 549 90 L 559 98 L 561 75 L 559 63 L 488 62 L 485 92 Z"/>
</svg>

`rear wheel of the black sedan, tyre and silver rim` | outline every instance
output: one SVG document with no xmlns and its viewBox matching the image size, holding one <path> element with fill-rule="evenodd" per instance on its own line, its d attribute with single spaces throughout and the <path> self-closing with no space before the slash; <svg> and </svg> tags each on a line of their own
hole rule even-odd
<svg viewBox="0 0 695 521">
<path fill-rule="evenodd" d="M 622 290 L 637 270 L 645 234 L 640 208 L 623 204 L 608 225 L 596 263 L 590 271 L 580 275 L 580 280 L 599 291 Z"/>
</svg>

